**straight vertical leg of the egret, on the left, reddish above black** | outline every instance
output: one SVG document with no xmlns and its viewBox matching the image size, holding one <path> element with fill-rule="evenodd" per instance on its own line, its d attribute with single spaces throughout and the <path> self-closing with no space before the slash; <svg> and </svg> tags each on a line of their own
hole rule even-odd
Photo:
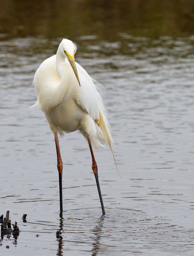
<svg viewBox="0 0 194 256">
<path fill-rule="evenodd" d="M 55 136 L 55 144 L 56 144 L 56 150 L 57 150 L 57 169 L 58 169 L 58 172 L 59 172 L 60 212 L 62 212 L 63 211 L 63 201 L 62 201 L 62 172 L 63 172 L 63 163 L 62 163 L 61 154 L 60 154 L 59 140 L 58 140 L 57 132 L 54 132 L 54 136 Z"/>
</svg>

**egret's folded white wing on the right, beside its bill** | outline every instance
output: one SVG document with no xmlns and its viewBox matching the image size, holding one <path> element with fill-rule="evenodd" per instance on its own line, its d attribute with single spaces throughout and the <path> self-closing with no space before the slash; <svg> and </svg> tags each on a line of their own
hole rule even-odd
<svg viewBox="0 0 194 256">
<path fill-rule="evenodd" d="M 99 100 L 98 92 L 88 73 L 78 63 L 76 63 L 77 72 L 81 87 L 79 94 L 76 95 L 76 102 L 82 110 L 87 112 L 93 120 L 99 120 Z"/>
</svg>

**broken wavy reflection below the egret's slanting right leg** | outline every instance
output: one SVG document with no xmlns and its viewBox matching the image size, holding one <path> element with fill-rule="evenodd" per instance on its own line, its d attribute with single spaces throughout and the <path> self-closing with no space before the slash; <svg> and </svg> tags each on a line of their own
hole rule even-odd
<svg viewBox="0 0 194 256">
<path fill-rule="evenodd" d="M 93 243 L 93 248 L 92 248 L 92 256 L 96 256 L 97 253 L 100 250 L 100 238 L 102 236 L 102 227 L 103 227 L 103 222 L 104 218 L 106 218 L 104 215 L 102 215 L 99 220 L 96 222 L 97 225 L 94 228 L 94 243 Z"/>
</svg>

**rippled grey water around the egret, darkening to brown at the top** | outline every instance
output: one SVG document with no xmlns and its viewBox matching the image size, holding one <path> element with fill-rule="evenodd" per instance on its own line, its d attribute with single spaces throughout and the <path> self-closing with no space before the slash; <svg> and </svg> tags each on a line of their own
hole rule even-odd
<svg viewBox="0 0 194 256">
<path fill-rule="evenodd" d="M 146 4 L 141 6 L 142 2 Z M 107 38 L 102 29 L 87 31 L 87 26 L 99 20 L 104 26 L 112 24 L 112 17 L 119 20 L 125 1 L 113 8 L 108 6 L 112 16 L 106 16 L 107 6 L 102 12 L 103 2 L 92 16 L 95 9 L 83 1 L 77 25 L 83 28 L 76 29 L 75 34 L 71 34 L 74 23 L 70 10 L 76 2 L 67 2 L 68 33 L 78 43 L 76 61 L 106 89 L 104 103 L 122 179 L 108 147 L 95 152 L 106 210 L 106 216 L 101 216 L 85 139 L 77 132 L 60 138 L 64 164 L 62 218 L 54 136 L 44 115 L 31 116 L 28 108 L 36 101 L 31 84 L 37 67 L 56 53 L 62 36 L 68 33 L 62 35 L 55 29 L 57 24 L 62 28 L 65 24 L 54 14 L 49 16 L 50 2 L 41 19 L 45 5 L 37 5 L 34 20 L 30 4 L 2 2 L 6 3 L 4 12 L 14 7 L 7 27 L 1 11 L 0 214 L 10 210 L 12 223 L 16 220 L 22 231 L 17 240 L 3 237 L 2 255 L 193 255 L 194 36 L 192 22 L 186 26 L 193 9 L 177 2 L 177 6 L 174 1 L 169 3 L 174 9 L 159 12 L 160 6 L 153 6 L 153 1 L 131 1 L 131 12 L 110 26 L 109 32 L 114 27 L 115 32 L 108 33 Z M 53 12 L 57 13 L 61 1 L 56 3 Z M 143 12 L 145 9 L 147 12 Z M 77 14 L 79 10 L 75 10 Z M 11 29 L 9 22 L 18 11 L 20 19 Z M 156 23 L 158 12 L 159 21 L 165 22 Z M 62 11 L 59 13 L 62 17 Z M 104 15 L 101 18 L 100 13 Z M 124 26 L 132 13 L 139 21 Z M 180 13 L 184 14 L 179 16 L 182 23 L 176 20 Z M 172 17 L 176 22 L 169 23 Z M 22 22 L 21 34 L 14 32 Z M 185 24 L 185 29 L 180 24 Z M 38 36 L 41 26 L 51 34 Z M 151 33 L 152 27 L 157 33 Z M 28 214 L 27 222 L 22 222 L 24 213 Z M 61 236 L 56 238 L 58 230 Z"/>
</svg>

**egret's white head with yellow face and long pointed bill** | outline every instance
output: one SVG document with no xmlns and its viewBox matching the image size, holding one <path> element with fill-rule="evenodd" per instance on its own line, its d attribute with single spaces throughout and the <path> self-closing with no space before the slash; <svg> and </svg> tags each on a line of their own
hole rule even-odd
<svg viewBox="0 0 194 256">
<path fill-rule="evenodd" d="M 81 86 L 80 81 L 79 81 L 79 76 L 77 73 L 77 68 L 75 66 L 75 59 L 74 59 L 74 55 L 77 51 L 77 45 L 68 39 L 63 39 L 61 42 L 61 45 L 62 45 L 63 54 L 69 61 L 70 65 L 75 73 L 75 76 L 77 78 L 77 81 L 79 83 L 79 86 Z"/>
</svg>

